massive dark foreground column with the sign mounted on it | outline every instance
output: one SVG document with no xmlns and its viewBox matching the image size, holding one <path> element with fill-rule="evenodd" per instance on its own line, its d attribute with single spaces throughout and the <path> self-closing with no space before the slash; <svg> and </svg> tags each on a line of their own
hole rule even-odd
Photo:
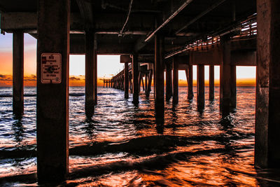
<svg viewBox="0 0 280 187">
<path fill-rule="evenodd" d="M 69 171 L 70 1 L 37 3 L 37 176 L 38 183 L 60 182 Z M 61 83 L 41 82 L 42 53 L 61 54 Z"/>
</svg>

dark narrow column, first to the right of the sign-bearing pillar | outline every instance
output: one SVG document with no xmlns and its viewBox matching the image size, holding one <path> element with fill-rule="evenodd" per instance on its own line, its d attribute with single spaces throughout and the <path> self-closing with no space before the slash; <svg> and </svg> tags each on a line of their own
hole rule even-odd
<svg viewBox="0 0 280 187">
<path fill-rule="evenodd" d="M 108 87 L 108 83 L 106 83 Z M 85 114 L 94 113 L 94 30 L 85 30 Z"/>
</svg>

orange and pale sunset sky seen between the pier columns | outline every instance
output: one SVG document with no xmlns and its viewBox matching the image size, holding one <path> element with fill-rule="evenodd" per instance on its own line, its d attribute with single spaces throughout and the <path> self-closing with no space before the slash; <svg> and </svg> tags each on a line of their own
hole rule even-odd
<svg viewBox="0 0 280 187">
<path fill-rule="evenodd" d="M 12 85 L 13 74 L 13 34 L 0 34 L 0 86 Z M 36 39 L 25 34 L 25 86 L 36 85 Z M 124 67 L 118 55 L 97 56 L 97 76 L 109 78 Z M 215 67 L 215 80 L 218 85 L 219 67 Z M 85 55 L 70 55 L 70 85 L 85 85 Z M 196 66 L 193 66 L 193 78 L 196 80 Z M 205 83 L 208 84 L 209 66 L 205 66 Z M 196 81 L 194 81 L 195 84 Z M 99 85 L 102 85 L 99 80 Z M 179 71 L 179 85 L 187 85 L 186 74 Z M 237 85 L 255 85 L 255 67 L 237 67 Z"/>
</svg>

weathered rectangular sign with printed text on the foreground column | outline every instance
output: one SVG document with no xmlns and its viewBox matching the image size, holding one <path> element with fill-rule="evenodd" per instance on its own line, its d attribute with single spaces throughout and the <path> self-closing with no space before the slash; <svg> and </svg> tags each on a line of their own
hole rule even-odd
<svg viewBox="0 0 280 187">
<path fill-rule="evenodd" d="M 42 53 L 41 83 L 62 82 L 62 59 L 59 53 Z"/>
</svg>

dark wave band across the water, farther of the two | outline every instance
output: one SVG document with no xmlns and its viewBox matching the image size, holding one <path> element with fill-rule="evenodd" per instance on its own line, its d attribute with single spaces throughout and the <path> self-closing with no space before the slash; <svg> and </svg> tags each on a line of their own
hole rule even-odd
<svg viewBox="0 0 280 187">
<path fill-rule="evenodd" d="M 230 140 L 246 139 L 252 137 L 253 134 L 234 134 L 230 137 L 221 136 L 193 136 L 179 137 L 172 135 L 158 135 L 150 137 L 139 137 L 127 141 L 113 142 L 102 141 L 93 142 L 85 146 L 75 146 L 69 148 L 69 155 L 99 155 L 104 153 L 131 153 L 134 155 L 153 155 L 155 153 L 168 153 L 175 151 L 177 146 L 199 145 L 203 141 L 217 141 L 219 144 L 228 143 Z M 35 147 L 33 145 L 32 147 Z M 253 146 L 249 146 L 253 148 Z M 232 146 L 235 148 L 235 146 Z M 31 158 L 36 157 L 36 148 L 20 149 L 13 148 L 3 149 L 0 151 L 0 158 Z"/>
</svg>

